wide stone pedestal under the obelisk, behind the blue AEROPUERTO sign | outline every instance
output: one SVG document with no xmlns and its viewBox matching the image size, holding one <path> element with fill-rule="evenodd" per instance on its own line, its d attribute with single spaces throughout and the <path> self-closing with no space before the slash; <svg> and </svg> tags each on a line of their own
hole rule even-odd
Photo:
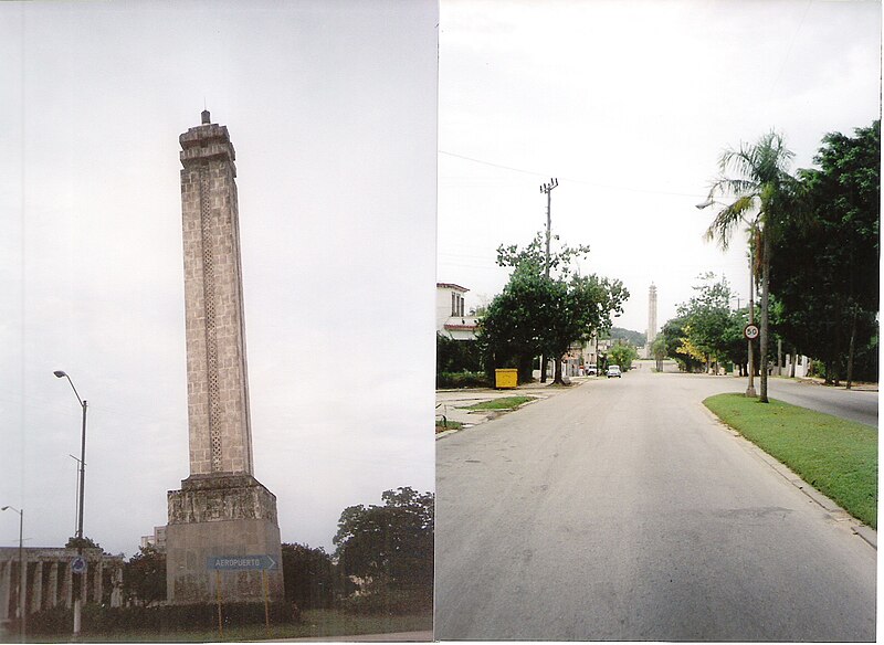
<svg viewBox="0 0 884 645">
<path fill-rule="evenodd" d="M 222 602 L 263 602 L 265 584 L 271 601 L 284 599 L 276 497 L 257 479 L 191 475 L 180 490 L 169 490 L 168 501 L 169 602 L 215 602 L 219 584 Z"/>
</svg>

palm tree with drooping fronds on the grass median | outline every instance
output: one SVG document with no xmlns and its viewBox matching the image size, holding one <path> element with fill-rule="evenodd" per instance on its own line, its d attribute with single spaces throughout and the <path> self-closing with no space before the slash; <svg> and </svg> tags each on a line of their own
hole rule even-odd
<svg viewBox="0 0 884 645">
<path fill-rule="evenodd" d="M 780 234 L 786 213 L 798 207 L 799 183 L 788 172 L 794 155 L 786 148 L 781 135 L 770 131 L 756 144 L 740 144 L 739 149 L 726 149 L 719 162 L 720 177 L 709 189 L 707 203 L 715 197 L 733 200 L 724 205 L 706 231 L 707 240 L 718 240 L 722 250 L 727 250 L 734 230 L 740 224 L 749 226 L 749 244 L 756 250 L 761 267 L 761 334 L 759 401 L 767 398 L 768 309 L 770 254 L 772 240 Z M 728 177 L 733 173 L 733 177 Z M 757 275 L 753 266 L 753 278 Z"/>
</svg>

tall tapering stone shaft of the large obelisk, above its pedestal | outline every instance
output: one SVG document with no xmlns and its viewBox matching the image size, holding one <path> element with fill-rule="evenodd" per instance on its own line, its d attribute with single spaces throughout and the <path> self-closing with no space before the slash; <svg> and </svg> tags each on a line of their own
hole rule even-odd
<svg viewBox="0 0 884 645">
<path fill-rule="evenodd" d="M 190 474 L 251 475 L 235 152 L 209 121 L 179 139 Z"/>
</svg>

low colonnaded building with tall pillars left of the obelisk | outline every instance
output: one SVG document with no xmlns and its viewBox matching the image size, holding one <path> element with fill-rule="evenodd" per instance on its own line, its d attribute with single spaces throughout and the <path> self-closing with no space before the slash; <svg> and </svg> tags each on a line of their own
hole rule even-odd
<svg viewBox="0 0 884 645">
<path fill-rule="evenodd" d="M 25 578 L 25 613 L 55 606 L 73 606 L 76 549 L 0 547 L 0 623 L 18 615 L 21 572 Z M 83 549 L 86 572 L 80 577 L 80 598 L 84 603 L 109 606 L 123 604 L 123 556 L 108 556 L 102 549 Z"/>
</svg>

